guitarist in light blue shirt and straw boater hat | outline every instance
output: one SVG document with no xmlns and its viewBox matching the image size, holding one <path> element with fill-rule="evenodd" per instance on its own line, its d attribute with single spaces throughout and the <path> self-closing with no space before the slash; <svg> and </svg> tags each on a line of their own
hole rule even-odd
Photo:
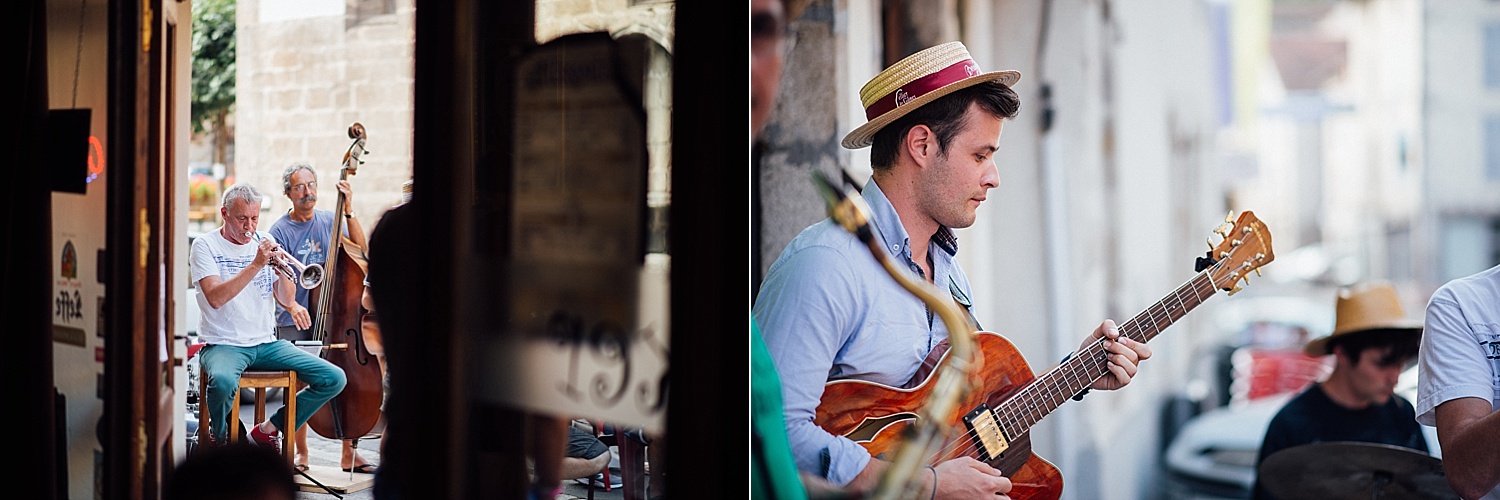
<svg viewBox="0 0 1500 500">
<path fill-rule="evenodd" d="M 1000 129 L 1020 110 L 1014 71 L 981 71 L 960 42 L 918 51 L 880 71 L 861 90 L 867 123 L 843 138 L 848 149 L 873 147 L 873 177 L 862 197 L 878 240 L 892 260 L 964 305 L 969 279 L 956 260 L 954 228 L 1000 182 L 994 155 Z M 948 335 L 942 321 L 900 287 L 868 249 L 832 221 L 798 234 L 771 264 L 754 302 L 766 347 L 782 380 L 788 438 L 798 468 L 834 485 L 866 491 L 890 467 L 855 441 L 813 423 L 824 384 L 861 378 L 906 384 Z M 970 311 L 972 312 L 972 311 Z M 1084 342 L 1108 338 L 1110 375 L 1094 389 L 1130 383 L 1140 342 L 1119 339 L 1104 321 Z M 1011 489 L 1000 471 L 974 458 L 938 464 L 922 476 L 922 498 L 976 498 Z"/>
</svg>

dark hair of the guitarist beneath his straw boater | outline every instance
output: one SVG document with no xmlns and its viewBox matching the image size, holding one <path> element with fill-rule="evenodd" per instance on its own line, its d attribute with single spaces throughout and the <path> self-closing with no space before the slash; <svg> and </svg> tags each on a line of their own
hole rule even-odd
<svg viewBox="0 0 1500 500">
<path fill-rule="evenodd" d="M 1022 98 L 1016 95 L 1016 90 L 999 81 L 986 81 L 956 90 L 921 108 L 912 110 L 912 113 L 896 119 L 896 122 L 874 132 L 870 146 L 870 167 L 884 170 L 896 165 L 902 140 L 906 138 L 908 131 L 918 125 L 933 129 L 933 135 L 938 137 L 938 152 L 946 156 L 948 144 L 952 143 L 952 138 L 966 125 L 964 113 L 969 111 L 970 102 L 978 102 L 980 108 L 1002 120 L 1014 119 L 1022 110 Z"/>
</svg>

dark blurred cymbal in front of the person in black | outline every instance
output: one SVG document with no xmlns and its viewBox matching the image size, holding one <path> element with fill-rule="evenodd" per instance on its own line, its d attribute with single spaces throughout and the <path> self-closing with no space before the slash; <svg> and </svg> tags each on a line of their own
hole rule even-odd
<svg viewBox="0 0 1500 500">
<path fill-rule="evenodd" d="M 1266 456 L 1258 474 L 1281 498 L 1458 498 L 1440 459 L 1394 444 L 1293 446 Z"/>
</svg>

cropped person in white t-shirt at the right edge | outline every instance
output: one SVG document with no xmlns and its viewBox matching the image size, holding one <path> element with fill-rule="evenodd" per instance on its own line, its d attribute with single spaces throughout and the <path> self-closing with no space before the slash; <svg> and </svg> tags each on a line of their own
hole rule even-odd
<svg viewBox="0 0 1500 500">
<path fill-rule="evenodd" d="M 1425 326 L 1416 419 L 1437 426 L 1454 491 L 1500 498 L 1500 266 L 1437 288 Z"/>
</svg>

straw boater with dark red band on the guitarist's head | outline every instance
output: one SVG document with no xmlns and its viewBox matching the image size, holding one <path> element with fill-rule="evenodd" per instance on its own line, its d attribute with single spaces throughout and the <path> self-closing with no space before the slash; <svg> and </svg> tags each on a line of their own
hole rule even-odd
<svg viewBox="0 0 1500 500">
<path fill-rule="evenodd" d="M 844 135 L 843 147 L 870 146 L 870 138 L 880 128 L 956 90 L 984 81 L 999 81 L 1010 87 L 1020 80 L 1018 71 L 980 71 L 980 65 L 960 42 L 926 48 L 891 65 L 860 89 L 860 104 L 864 105 L 868 122 Z"/>
</svg>

